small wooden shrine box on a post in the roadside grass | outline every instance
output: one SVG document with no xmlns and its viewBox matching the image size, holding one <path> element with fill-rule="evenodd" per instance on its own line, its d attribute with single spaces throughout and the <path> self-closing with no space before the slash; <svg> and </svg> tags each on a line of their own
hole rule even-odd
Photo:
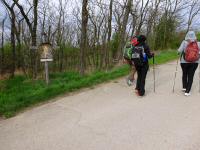
<svg viewBox="0 0 200 150">
<path fill-rule="evenodd" d="M 48 62 L 53 61 L 53 48 L 50 43 L 42 43 L 40 45 L 40 61 L 45 64 L 45 78 L 47 85 L 49 84 L 49 66 Z"/>
</svg>

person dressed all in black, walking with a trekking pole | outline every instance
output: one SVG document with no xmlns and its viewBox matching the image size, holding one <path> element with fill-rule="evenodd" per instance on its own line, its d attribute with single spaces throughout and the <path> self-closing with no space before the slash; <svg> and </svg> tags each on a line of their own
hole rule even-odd
<svg viewBox="0 0 200 150">
<path fill-rule="evenodd" d="M 137 70 L 137 84 L 136 84 L 136 94 L 138 96 L 144 96 L 145 94 L 145 80 L 146 80 L 146 75 L 147 71 L 149 70 L 149 62 L 148 59 L 152 58 L 154 56 L 154 53 L 150 52 L 149 46 L 146 44 L 146 37 L 144 35 L 139 35 L 138 36 L 138 42 L 136 46 L 141 46 L 144 49 L 144 61 L 142 65 L 137 66 L 135 64 L 135 68 Z"/>
</svg>

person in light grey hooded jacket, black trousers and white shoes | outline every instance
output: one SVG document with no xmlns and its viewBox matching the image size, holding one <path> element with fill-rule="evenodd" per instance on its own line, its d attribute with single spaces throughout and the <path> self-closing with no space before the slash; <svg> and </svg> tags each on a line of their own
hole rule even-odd
<svg viewBox="0 0 200 150">
<path fill-rule="evenodd" d="M 178 49 L 179 53 L 181 53 L 181 61 L 180 62 L 181 62 L 181 68 L 182 68 L 182 72 L 183 72 L 182 91 L 185 92 L 185 96 L 191 95 L 190 90 L 192 87 L 194 74 L 195 74 L 195 71 L 196 71 L 196 69 L 198 67 L 198 63 L 199 63 L 199 59 L 197 59 L 194 62 L 188 62 L 185 60 L 186 58 L 184 57 L 184 55 L 186 53 L 186 49 L 190 42 L 196 42 L 197 43 L 196 48 L 198 48 L 198 49 L 200 48 L 200 43 L 197 42 L 197 38 L 196 38 L 194 31 L 189 31 L 186 34 L 185 40 L 181 43 L 181 45 Z M 199 52 L 199 50 L 198 50 L 198 52 Z"/>
</svg>

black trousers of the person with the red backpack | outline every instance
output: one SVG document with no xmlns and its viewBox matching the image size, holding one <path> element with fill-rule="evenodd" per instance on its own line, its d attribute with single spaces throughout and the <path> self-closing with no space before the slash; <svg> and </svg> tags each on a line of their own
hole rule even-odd
<svg viewBox="0 0 200 150">
<path fill-rule="evenodd" d="M 198 63 L 181 63 L 183 71 L 182 83 L 186 93 L 189 93 L 192 87 L 194 73 L 198 67 Z"/>
</svg>

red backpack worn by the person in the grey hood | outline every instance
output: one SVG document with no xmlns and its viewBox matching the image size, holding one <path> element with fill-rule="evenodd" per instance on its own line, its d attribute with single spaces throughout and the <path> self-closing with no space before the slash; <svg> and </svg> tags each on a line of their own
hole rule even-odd
<svg viewBox="0 0 200 150">
<path fill-rule="evenodd" d="M 185 60 L 195 62 L 199 59 L 199 47 L 197 42 L 190 42 L 185 50 Z"/>
</svg>

